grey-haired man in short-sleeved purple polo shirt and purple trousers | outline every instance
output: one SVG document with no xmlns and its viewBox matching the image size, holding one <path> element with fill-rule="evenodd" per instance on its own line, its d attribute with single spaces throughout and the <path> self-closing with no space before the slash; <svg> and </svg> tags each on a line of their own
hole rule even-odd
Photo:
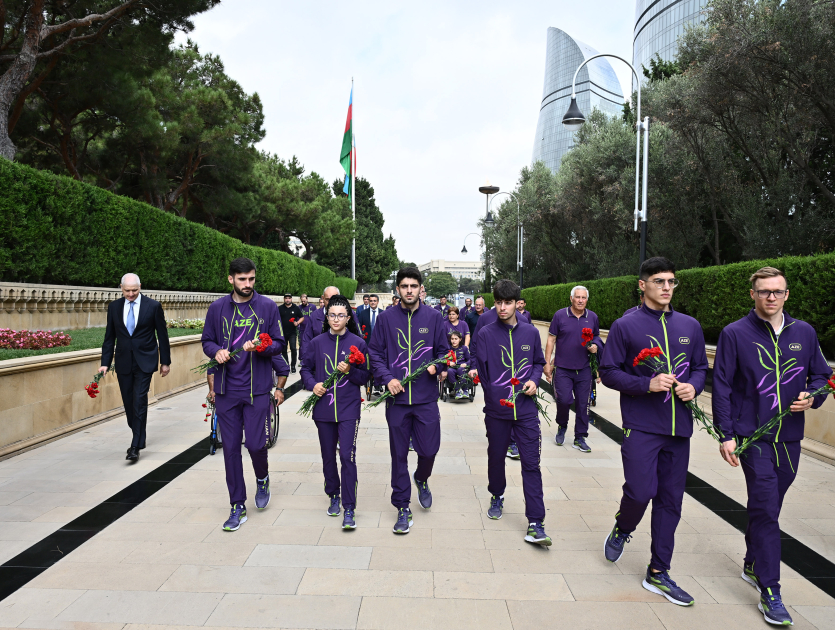
<svg viewBox="0 0 835 630">
<path fill-rule="evenodd" d="M 591 357 L 603 347 L 600 340 L 600 324 L 594 311 L 586 308 L 589 292 L 586 287 L 576 286 L 571 289 L 571 306 L 554 313 L 551 327 L 548 329 L 548 342 L 545 344 L 545 378 L 553 379 L 554 394 L 557 398 L 557 446 L 565 442 L 568 430 L 568 411 L 571 403 L 574 407 L 574 448 L 591 453 L 586 444 L 589 436 L 589 400 L 591 396 Z M 583 329 L 591 328 L 594 338 L 583 345 Z M 551 353 L 556 348 L 554 365 Z"/>
</svg>

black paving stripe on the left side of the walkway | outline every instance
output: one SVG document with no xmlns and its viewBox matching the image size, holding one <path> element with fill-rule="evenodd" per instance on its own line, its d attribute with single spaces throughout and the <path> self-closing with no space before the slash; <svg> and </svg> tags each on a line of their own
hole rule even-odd
<svg viewBox="0 0 835 630">
<path fill-rule="evenodd" d="M 289 385 L 284 390 L 285 400 L 301 390 L 301 381 Z M 162 490 L 208 454 L 209 438 L 206 437 L 0 566 L 0 601 Z"/>
</svg>

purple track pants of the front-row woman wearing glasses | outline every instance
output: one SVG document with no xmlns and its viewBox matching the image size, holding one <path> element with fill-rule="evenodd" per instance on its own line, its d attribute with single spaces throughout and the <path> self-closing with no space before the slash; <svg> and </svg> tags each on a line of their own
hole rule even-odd
<svg viewBox="0 0 835 630">
<path fill-rule="evenodd" d="M 339 469 L 336 466 L 336 443 L 339 442 L 339 461 L 342 464 L 342 507 L 357 507 L 357 433 L 359 420 L 316 422 L 319 447 L 322 449 L 322 472 L 325 474 L 325 494 L 339 495 Z"/>
</svg>

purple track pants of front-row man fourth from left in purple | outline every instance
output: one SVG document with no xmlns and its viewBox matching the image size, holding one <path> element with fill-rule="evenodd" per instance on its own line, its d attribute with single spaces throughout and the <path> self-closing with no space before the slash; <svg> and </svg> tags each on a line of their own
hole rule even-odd
<svg viewBox="0 0 835 630">
<path fill-rule="evenodd" d="M 545 520 L 545 498 L 542 491 L 542 472 L 539 460 L 542 455 L 542 432 L 539 418 L 525 420 L 500 420 L 484 417 L 487 428 L 487 489 L 493 496 L 503 496 L 507 488 L 505 457 L 510 444 L 510 434 L 519 448 L 522 463 L 522 492 L 525 495 L 525 516 L 529 521 Z"/>
</svg>

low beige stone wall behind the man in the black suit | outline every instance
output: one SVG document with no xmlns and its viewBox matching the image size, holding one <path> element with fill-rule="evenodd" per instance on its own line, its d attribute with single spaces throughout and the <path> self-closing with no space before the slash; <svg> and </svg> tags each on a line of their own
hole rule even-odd
<svg viewBox="0 0 835 630">
<path fill-rule="evenodd" d="M 154 374 L 150 398 L 205 382 L 191 371 L 205 360 L 200 335 L 171 339 L 171 372 Z M 98 398 L 84 391 L 99 365 L 98 348 L 0 361 L 0 456 L 121 413 L 115 373 L 101 380 Z"/>
</svg>

